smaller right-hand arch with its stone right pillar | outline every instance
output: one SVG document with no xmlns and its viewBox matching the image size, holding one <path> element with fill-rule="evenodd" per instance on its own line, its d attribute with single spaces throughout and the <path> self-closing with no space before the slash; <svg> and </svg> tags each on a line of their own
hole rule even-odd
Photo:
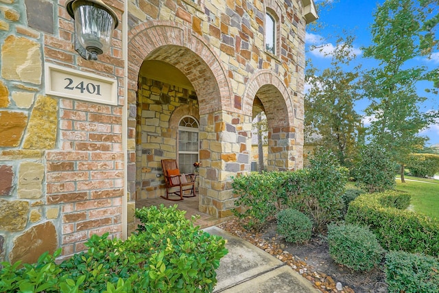
<svg viewBox="0 0 439 293">
<path fill-rule="evenodd" d="M 256 97 L 268 120 L 268 171 L 296 169 L 300 152 L 296 152 L 294 105 L 287 87 L 272 72 L 259 71 L 244 93 L 244 111 L 249 116 Z"/>
</svg>

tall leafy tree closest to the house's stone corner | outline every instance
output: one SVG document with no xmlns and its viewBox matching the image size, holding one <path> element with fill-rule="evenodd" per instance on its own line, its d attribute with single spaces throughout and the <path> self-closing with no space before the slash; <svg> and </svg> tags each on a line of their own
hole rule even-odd
<svg viewBox="0 0 439 293">
<path fill-rule="evenodd" d="M 310 86 L 305 94 L 305 141 L 314 140 L 329 148 L 346 167 L 351 165 L 362 126 L 361 116 L 354 109 L 361 97 L 359 67 L 346 69 L 355 58 L 352 43 L 351 36 L 339 38 L 331 52 L 331 67 L 320 71 L 308 60 L 305 75 Z"/>
</svg>

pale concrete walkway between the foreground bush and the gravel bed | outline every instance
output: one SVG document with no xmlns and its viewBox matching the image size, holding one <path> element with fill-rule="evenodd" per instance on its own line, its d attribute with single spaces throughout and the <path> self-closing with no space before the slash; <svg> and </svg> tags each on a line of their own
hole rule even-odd
<svg viewBox="0 0 439 293">
<path fill-rule="evenodd" d="M 213 292 L 320 292 L 298 272 L 249 242 L 230 235 L 217 226 L 203 230 L 227 239 L 228 254 L 219 263 L 218 283 Z"/>
</svg>

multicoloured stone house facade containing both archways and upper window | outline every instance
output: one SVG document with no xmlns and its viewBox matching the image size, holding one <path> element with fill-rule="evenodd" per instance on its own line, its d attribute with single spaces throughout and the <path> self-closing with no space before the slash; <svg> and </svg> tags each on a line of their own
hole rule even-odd
<svg viewBox="0 0 439 293">
<path fill-rule="evenodd" d="M 148 60 L 167 62 L 191 82 L 200 117 L 200 211 L 215 217 L 231 214 L 231 176 L 250 171 L 256 97 L 268 117 L 268 170 L 302 167 L 305 25 L 312 21 L 311 8 L 312 1 L 131 3 L 128 102 L 139 113 L 139 71 Z M 265 50 L 266 11 L 277 20 L 275 54 Z M 170 150 L 166 155 L 176 156 Z M 160 167 L 159 161 L 155 164 Z M 145 191 L 143 198 L 158 196 L 156 187 Z"/>
</svg>

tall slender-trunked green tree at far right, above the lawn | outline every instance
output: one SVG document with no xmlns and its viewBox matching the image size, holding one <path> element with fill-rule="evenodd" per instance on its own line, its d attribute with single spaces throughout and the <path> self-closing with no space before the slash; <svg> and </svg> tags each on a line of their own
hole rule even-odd
<svg viewBox="0 0 439 293">
<path fill-rule="evenodd" d="M 414 62 L 438 48 L 434 32 L 439 22 L 437 6 L 434 10 L 437 2 L 386 0 L 375 12 L 372 45 L 364 51 L 365 57 L 379 60 L 379 67 L 364 78 L 371 102 L 365 112 L 373 117 L 368 133 L 401 164 L 401 180 L 408 156 L 426 141 L 418 133 L 438 117 L 438 110 L 420 109 L 425 97 L 416 91 L 417 82 L 436 80 L 438 71 Z"/>
</svg>

